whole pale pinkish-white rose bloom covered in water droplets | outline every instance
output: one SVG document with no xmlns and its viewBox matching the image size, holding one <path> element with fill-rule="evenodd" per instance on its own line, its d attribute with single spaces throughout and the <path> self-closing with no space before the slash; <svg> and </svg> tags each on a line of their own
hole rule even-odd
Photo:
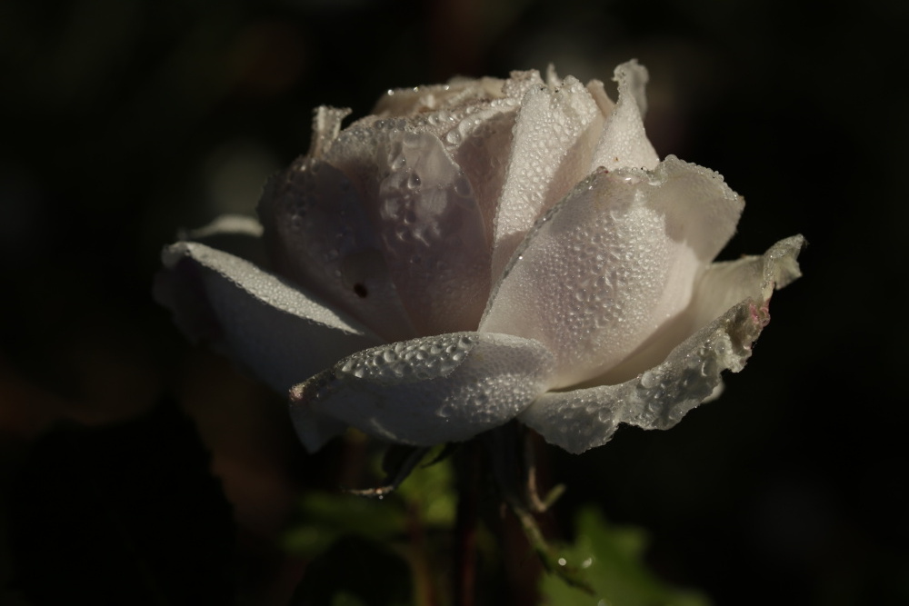
<svg viewBox="0 0 909 606">
<path fill-rule="evenodd" d="M 801 236 L 713 263 L 744 202 L 644 134 L 647 73 L 618 101 L 550 69 L 388 91 L 273 177 L 261 225 L 165 248 L 176 322 L 290 392 L 306 448 L 353 425 L 415 445 L 514 418 L 570 452 L 619 422 L 668 428 L 740 371 Z"/>
</svg>

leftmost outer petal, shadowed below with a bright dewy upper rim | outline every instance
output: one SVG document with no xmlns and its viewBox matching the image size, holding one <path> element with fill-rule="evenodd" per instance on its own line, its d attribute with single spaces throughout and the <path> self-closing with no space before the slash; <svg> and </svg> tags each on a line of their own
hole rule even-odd
<svg viewBox="0 0 909 606">
<path fill-rule="evenodd" d="M 179 242 L 162 254 L 155 298 L 196 338 L 213 339 L 275 391 L 382 343 L 344 313 L 240 257 Z"/>
</svg>

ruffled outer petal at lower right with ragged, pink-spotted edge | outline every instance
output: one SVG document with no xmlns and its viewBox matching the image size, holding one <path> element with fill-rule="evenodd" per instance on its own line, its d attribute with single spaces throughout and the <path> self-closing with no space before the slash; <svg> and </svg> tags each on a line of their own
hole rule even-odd
<svg viewBox="0 0 909 606">
<path fill-rule="evenodd" d="M 804 239 L 794 236 L 776 243 L 763 257 L 718 263 L 701 285 L 701 313 L 743 294 L 744 301 L 721 312 L 663 363 L 633 380 L 546 393 L 519 418 L 569 452 L 608 442 L 620 422 L 644 429 L 672 427 L 720 387 L 720 373 L 742 370 L 752 343 L 770 321 L 767 304 L 774 284 L 782 288 L 800 275 L 795 258 L 803 245 Z"/>
</svg>

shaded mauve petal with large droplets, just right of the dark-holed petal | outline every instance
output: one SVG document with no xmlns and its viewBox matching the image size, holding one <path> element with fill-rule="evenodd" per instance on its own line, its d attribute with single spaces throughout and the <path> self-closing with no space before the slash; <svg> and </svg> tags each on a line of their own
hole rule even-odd
<svg viewBox="0 0 909 606">
<path fill-rule="evenodd" d="M 417 332 L 474 329 L 489 296 L 491 248 L 471 184 L 442 142 L 403 121 L 376 121 L 345 130 L 326 161 L 359 192 Z"/>
</svg>

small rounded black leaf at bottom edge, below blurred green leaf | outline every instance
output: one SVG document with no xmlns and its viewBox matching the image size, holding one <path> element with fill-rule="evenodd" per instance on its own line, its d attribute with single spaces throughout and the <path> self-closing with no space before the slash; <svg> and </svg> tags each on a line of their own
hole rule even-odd
<svg viewBox="0 0 909 606">
<path fill-rule="evenodd" d="M 363 537 L 346 536 L 312 561 L 291 606 L 392 606 L 413 603 L 410 567 Z"/>
</svg>

